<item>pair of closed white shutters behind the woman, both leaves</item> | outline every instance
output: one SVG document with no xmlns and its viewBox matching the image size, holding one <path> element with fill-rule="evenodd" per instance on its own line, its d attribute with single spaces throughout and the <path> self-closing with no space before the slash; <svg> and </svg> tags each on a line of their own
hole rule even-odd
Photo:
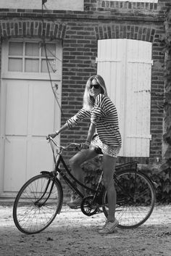
<svg viewBox="0 0 171 256">
<path fill-rule="evenodd" d="M 98 42 L 98 74 L 117 107 L 120 156 L 149 157 L 151 43 L 128 39 Z"/>
</svg>

